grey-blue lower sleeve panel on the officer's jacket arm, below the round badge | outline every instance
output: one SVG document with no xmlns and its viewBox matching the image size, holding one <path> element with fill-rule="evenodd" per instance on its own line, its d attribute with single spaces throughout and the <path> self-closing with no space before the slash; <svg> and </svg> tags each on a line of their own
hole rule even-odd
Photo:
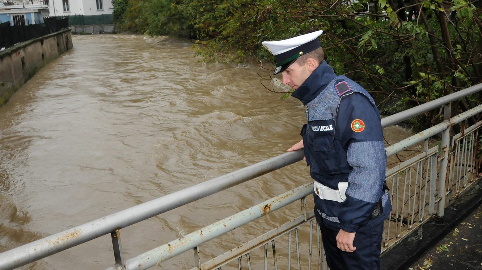
<svg viewBox="0 0 482 270">
<path fill-rule="evenodd" d="M 387 155 L 383 142 L 352 143 L 347 160 L 353 171 L 348 175 L 346 194 L 365 202 L 378 202 L 386 176 Z"/>
</svg>

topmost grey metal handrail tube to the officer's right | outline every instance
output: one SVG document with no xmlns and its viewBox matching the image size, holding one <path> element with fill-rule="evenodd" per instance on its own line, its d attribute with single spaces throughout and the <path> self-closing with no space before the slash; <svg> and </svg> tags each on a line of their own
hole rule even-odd
<svg viewBox="0 0 482 270">
<path fill-rule="evenodd" d="M 392 114 L 390 116 L 384 117 L 382 118 L 382 128 L 386 128 L 396 123 L 400 123 L 402 121 L 410 119 L 426 111 L 442 107 L 443 105 L 448 104 L 449 102 L 477 93 L 480 90 L 482 90 L 482 84 L 477 84 L 475 86 L 470 86 L 469 88 L 465 88 L 464 90 L 460 90 L 455 93 L 443 96 L 442 98 L 437 98 L 432 101 L 428 101 L 427 103 L 418 105 L 414 108 L 404 110 L 404 111 Z"/>
</svg>

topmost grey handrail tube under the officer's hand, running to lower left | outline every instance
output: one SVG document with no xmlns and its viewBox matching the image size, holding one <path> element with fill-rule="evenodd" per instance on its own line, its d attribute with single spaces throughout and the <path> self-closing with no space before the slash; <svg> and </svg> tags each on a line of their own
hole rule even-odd
<svg viewBox="0 0 482 270">
<path fill-rule="evenodd" d="M 117 229 L 186 205 L 258 176 L 273 172 L 302 160 L 303 150 L 284 153 L 200 184 L 176 191 L 160 198 L 121 210 L 95 221 L 47 236 L 40 240 L 0 253 L 0 269 L 12 270 L 27 263 L 80 245 Z"/>
</svg>

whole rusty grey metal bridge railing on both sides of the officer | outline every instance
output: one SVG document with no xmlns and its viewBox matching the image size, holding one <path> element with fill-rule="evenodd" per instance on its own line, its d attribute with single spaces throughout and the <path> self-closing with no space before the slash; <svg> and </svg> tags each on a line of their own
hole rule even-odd
<svg viewBox="0 0 482 270">
<path fill-rule="evenodd" d="M 391 115 L 389 117 L 385 117 L 381 120 L 382 126 L 387 127 L 389 125 L 400 123 L 404 120 L 412 118 L 413 116 L 423 113 L 425 111 L 432 110 L 440 106 L 445 106 L 444 122 L 437 124 L 422 133 L 414 135 L 408 139 L 402 140 L 397 144 L 387 147 L 387 155 L 390 156 L 406 149 L 407 147 L 413 146 L 416 143 L 426 140 L 426 147 L 420 155 L 417 155 L 415 158 L 412 158 L 411 160 L 406 161 L 408 163 L 404 164 L 403 166 L 399 166 L 397 169 L 398 171 L 395 169 L 392 169 L 391 171 L 389 171 L 390 173 L 388 174 L 388 180 L 390 181 L 390 184 L 392 185 L 392 187 L 395 188 L 394 187 L 395 182 L 393 181 L 393 179 L 395 179 L 393 178 L 395 175 L 400 176 L 401 173 L 402 174 L 404 173 L 405 174 L 404 179 L 411 180 L 412 174 L 414 173 L 412 171 L 415 170 L 415 174 L 414 174 L 415 188 L 413 189 L 413 191 L 411 187 L 408 188 L 408 192 L 407 192 L 407 189 L 405 189 L 405 193 L 403 194 L 403 196 L 398 196 L 399 195 L 398 185 L 397 185 L 397 192 L 395 192 L 395 190 L 392 188 L 390 196 L 392 198 L 392 205 L 394 205 L 392 210 L 392 216 L 391 216 L 391 219 L 393 221 L 386 221 L 388 222 L 388 226 L 386 226 L 387 229 L 386 229 L 386 233 L 384 234 L 386 235 L 386 237 L 384 236 L 385 249 L 394 245 L 397 241 L 400 241 L 400 239 L 408 235 L 408 233 L 403 234 L 402 232 L 400 232 L 400 229 L 402 228 L 401 224 L 404 224 L 404 222 L 407 224 L 408 222 L 410 222 L 411 225 L 413 225 L 414 223 L 421 224 L 421 222 L 426 220 L 427 215 L 430 215 L 431 213 L 433 213 L 433 211 L 435 210 L 435 203 L 438 203 L 437 215 L 442 217 L 443 209 L 446 206 L 446 201 L 449 201 L 452 198 L 451 197 L 450 199 L 447 199 L 447 196 L 449 196 L 452 193 L 455 196 L 458 195 L 460 192 L 459 190 L 460 185 L 467 187 L 468 186 L 467 180 L 469 182 L 472 181 L 471 179 L 469 179 L 469 174 L 470 173 L 473 174 L 474 172 L 473 169 L 475 165 L 474 164 L 469 165 L 469 163 L 467 162 L 470 162 L 470 160 L 474 162 L 475 159 L 468 159 L 466 156 L 472 154 L 470 153 L 470 151 L 472 152 L 475 151 L 474 146 L 476 142 L 474 142 L 474 140 L 476 140 L 477 138 L 477 131 L 478 131 L 478 127 L 480 126 L 480 123 L 479 123 L 479 126 L 470 127 L 468 129 L 467 133 L 469 134 L 473 133 L 473 135 L 470 135 L 468 137 L 467 135 L 462 134 L 457 138 L 454 137 L 453 140 L 454 142 L 457 143 L 457 147 L 455 147 L 455 150 L 452 150 L 452 152 L 450 152 L 450 149 L 449 149 L 450 127 L 454 124 L 465 121 L 467 118 L 473 115 L 476 115 L 477 113 L 480 113 L 482 111 L 482 105 L 450 119 L 450 104 L 448 103 L 450 103 L 451 101 L 457 100 L 459 98 L 463 98 L 467 95 L 476 93 L 480 90 L 482 90 L 482 85 L 471 86 L 465 90 L 461 90 L 454 94 L 447 95 L 443 98 L 430 101 L 428 103 L 417 106 L 410 110 L 405 110 L 403 112 Z M 437 172 L 436 172 L 437 162 L 434 161 L 436 160 L 434 157 L 437 157 L 439 151 L 434 150 L 435 148 L 428 149 L 428 142 L 429 142 L 428 139 L 431 136 L 436 135 L 440 132 L 442 132 L 442 145 L 441 145 L 441 151 L 440 151 L 442 154 L 441 155 L 442 157 L 438 159 L 441 161 L 441 164 L 439 166 L 440 168 L 439 177 L 438 177 L 439 182 L 436 183 L 434 178 L 437 175 Z M 469 142 L 470 139 L 472 140 L 471 142 Z M 469 149 L 467 149 L 467 145 L 469 145 Z M 448 166 L 449 155 L 450 155 L 450 159 L 454 160 L 450 162 L 450 167 Z M 82 224 L 80 226 L 71 228 L 64 232 L 56 233 L 54 235 L 42 238 L 40 240 L 29 243 L 27 245 L 23 245 L 23 246 L 8 250 L 6 252 L 0 253 L 0 269 L 5 269 L 5 270 L 15 269 L 17 267 L 26 265 L 35 260 L 45 258 L 52 254 L 66 250 L 75 245 L 80 245 L 82 243 L 88 242 L 90 240 L 93 240 L 97 237 L 100 237 L 108 233 L 110 233 L 112 237 L 114 257 L 116 261 L 115 266 L 109 269 L 147 269 L 152 266 L 155 266 L 161 261 L 165 261 L 168 258 L 172 258 L 174 254 L 180 254 L 191 248 L 194 249 L 195 258 L 196 258 L 195 265 L 198 269 L 203 269 L 203 270 L 220 269 L 222 265 L 228 263 L 231 259 L 238 259 L 238 265 L 241 269 L 241 258 L 243 256 L 247 257 L 248 269 L 250 269 L 251 263 L 250 263 L 249 251 L 253 250 L 254 248 L 260 245 L 264 246 L 265 248 L 265 269 L 266 269 L 269 242 L 271 242 L 273 247 L 273 261 L 275 264 L 275 268 L 277 269 L 277 259 L 276 259 L 276 253 L 275 253 L 274 239 L 288 233 L 289 246 L 291 250 L 292 231 L 295 231 L 296 239 L 298 239 L 297 238 L 298 228 L 303 224 L 308 224 L 308 223 L 310 224 L 308 269 L 310 269 L 311 252 L 312 252 L 311 239 L 313 234 L 312 225 L 313 225 L 314 214 L 313 214 L 313 211 L 307 212 L 306 210 L 307 208 L 306 196 L 308 196 L 312 192 L 312 189 L 308 188 L 308 186 L 310 186 L 309 184 L 303 185 L 294 190 L 288 191 L 287 193 L 277 198 L 273 198 L 275 200 L 271 199 L 262 204 L 259 204 L 250 209 L 245 210 L 249 212 L 249 215 L 247 215 L 246 213 L 244 213 L 245 211 L 243 211 L 232 217 L 227 218 L 226 220 L 234 219 L 236 221 L 232 221 L 232 222 L 228 221 L 227 223 L 225 222 L 226 226 L 224 223 L 219 223 L 221 221 L 218 221 L 210 226 L 207 226 L 206 228 L 203 228 L 202 229 L 203 233 L 195 232 L 195 233 L 188 234 L 185 237 L 181 238 L 182 240 L 179 240 L 179 239 L 175 240 L 173 242 L 170 242 L 166 245 L 162 245 L 158 248 L 150 250 L 144 254 L 141 254 L 129 260 L 123 259 L 122 245 L 120 242 L 121 228 L 127 227 L 129 225 L 133 225 L 139 221 L 146 220 L 148 218 L 151 218 L 161 213 L 164 213 L 166 211 L 175 209 L 187 203 L 196 201 L 200 198 L 212 195 L 214 193 L 217 193 L 221 190 L 225 190 L 234 185 L 241 184 L 248 180 L 254 179 L 260 175 L 266 174 L 268 172 L 275 171 L 284 166 L 287 166 L 289 164 L 302 160 L 303 156 L 304 156 L 303 150 L 288 152 L 280 156 L 248 166 L 241 170 L 228 173 L 226 175 L 214 178 L 212 180 L 208 180 L 201 184 L 196 184 L 194 186 L 174 192 L 172 194 L 151 200 L 149 202 L 134 206 L 129 209 L 122 210 L 120 212 L 103 217 L 101 219 Z M 461 161 L 461 159 L 463 159 L 464 161 Z M 427 162 L 428 162 L 428 166 L 425 166 L 424 164 Z M 413 169 L 414 166 L 416 169 Z M 424 176 L 424 173 L 423 173 L 424 170 L 427 170 L 426 172 L 428 172 L 429 170 L 430 171 L 429 175 L 432 178 L 429 178 L 427 176 L 428 173 L 425 173 L 425 176 Z M 455 191 L 452 191 L 453 189 L 451 185 L 445 184 L 445 179 L 446 179 L 448 170 L 450 173 L 452 173 L 452 175 L 455 175 L 455 176 L 451 176 L 452 178 L 450 178 L 448 182 L 448 183 L 455 183 L 455 184 L 451 184 L 456 187 Z M 442 181 L 440 179 L 442 179 Z M 461 182 L 461 180 L 463 181 Z M 405 183 L 410 185 L 411 182 L 405 182 Z M 428 186 L 430 188 L 427 191 Z M 438 196 L 435 195 L 435 190 L 438 190 Z M 426 201 L 427 197 L 428 197 L 428 202 Z M 210 239 L 213 239 L 214 237 L 217 237 L 222 233 L 225 233 L 234 228 L 237 228 L 242 224 L 250 222 L 251 220 L 254 220 L 260 216 L 266 215 L 267 213 L 274 211 L 275 209 L 281 208 L 282 206 L 285 206 L 298 199 L 301 199 L 302 201 L 302 215 L 300 217 L 294 219 L 293 221 L 289 221 L 279 226 L 278 228 L 272 230 L 271 232 L 268 232 L 262 236 L 259 236 L 246 244 L 241 245 L 240 247 L 236 248 L 235 251 L 225 253 L 201 265 L 201 261 L 199 257 L 199 248 L 198 248 L 198 245 L 200 243 L 209 241 Z M 398 202 L 399 204 L 395 205 L 396 202 Z M 406 209 L 407 213 L 410 213 L 409 214 L 410 221 L 408 221 L 408 218 L 403 217 L 403 213 L 404 213 L 403 209 L 399 208 L 401 205 L 403 209 Z M 426 207 L 428 207 L 427 215 L 425 215 L 425 210 L 424 210 Z M 400 210 L 400 213 L 399 213 L 399 210 Z M 244 213 L 243 217 L 245 217 L 244 218 L 245 220 L 243 221 L 240 221 L 237 218 L 238 216 L 241 217 L 243 215 L 241 213 Z M 249 217 L 246 218 L 246 216 L 249 216 Z M 415 216 L 417 216 L 418 220 L 415 220 Z M 395 237 L 391 239 L 390 239 L 390 235 L 391 235 L 390 222 L 392 223 L 394 222 L 395 224 L 394 225 Z M 222 224 L 222 226 L 220 226 L 220 224 Z M 397 231 L 397 228 L 400 228 L 400 229 L 398 229 Z M 414 228 L 414 226 L 411 226 L 406 231 L 411 231 L 412 228 Z M 206 232 L 210 230 L 213 230 L 213 233 L 209 233 L 209 235 L 206 234 Z M 320 244 L 318 229 L 317 229 L 317 239 L 318 239 L 317 241 L 318 268 L 326 269 L 326 264 L 323 261 L 323 254 L 322 254 L 323 250 Z M 296 240 L 296 243 L 298 246 L 297 240 Z M 175 253 L 173 252 L 174 250 L 176 250 Z M 168 252 L 169 255 L 167 255 L 166 252 Z M 298 247 L 297 247 L 297 258 L 298 258 L 298 264 L 299 264 L 300 259 L 299 259 Z M 290 269 L 291 252 L 289 253 L 289 261 L 287 263 L 289 266 L 288 269 Z"/>
</svg>

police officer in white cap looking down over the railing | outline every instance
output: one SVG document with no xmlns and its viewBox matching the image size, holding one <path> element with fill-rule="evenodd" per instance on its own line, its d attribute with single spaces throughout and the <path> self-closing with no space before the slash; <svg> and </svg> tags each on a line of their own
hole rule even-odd
<svg viewBox="0 0 482 270">
<path fill-rule="evenodd" d="M 288 151 L 304 148 L 328 266 L 377 270 L 391 211 L 380 114 L 362 86 L 324 61 L 322 32 L 262 44 L 275 56 L 274 74 L 306 105 L 302 140 Z"/>
</svg>

